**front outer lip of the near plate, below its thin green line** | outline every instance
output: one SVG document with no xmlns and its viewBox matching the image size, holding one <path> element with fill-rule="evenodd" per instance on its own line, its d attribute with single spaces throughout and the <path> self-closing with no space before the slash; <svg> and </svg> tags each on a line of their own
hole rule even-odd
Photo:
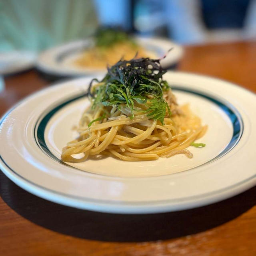
<svg viewBox="0 0 256 256">
<path fill-rule="evenodd" d="M 2 157 L 0 156 L 0 167 L 2 172 L 10 178 L 16 185 L 20 186 L 27 192 L 34 194 L 40 198 L 49 200 L 51 202 L 55 202 L 58 204 L 62 204 L 65 206 L 70 206 L 74 208 L 79 208 L 82 210 L 92 210 L 97 212 L 107 212 L 107 213 L 117 213 L 117 214 L 148 214 L 148 213 L 162 213 L 162 212 L 172 212 L 179 210 L 188 210 L 191 208 L 197 208 L 200 206 L 206 206 L 215 202 L 219 202 L 230 198 L 232 196 L 236 196 L 241 192 L 244 192 L 256 184 L 256 174 L 238 182 L 232 186 L 222 188 L 220 190 L 216 190 L 214 192 L 210 192 L 208 194 L 203 194 L 199 196 L 193 196 L 191 199 L 194 199 L 192 202 L 190 201 L 190 197 L 186 199 L 176 200 L 176 204 L 169 204 L 170 201 L 173 200 L 161 200 L 161 201 L 151 201 L 151 202 L 108 202 L 106 200 L 90 200 L 87 198 L 86 200 L 80 199 L 74 196 L 66 196 L 60 192 L 51 191 L 49 189 L 43 188 L 40 185 L 34 184 L 26 178 L 23 178 L 19 174 L 17 174 L 12 168 L 6 166 L 8 170 L 11 170 L 11 173 L 3 166 Z M 255 181 L 254 181 L 255 180 Z M 71 201 L 70 201 L 71 200 Z M 129 208 L 130 207 L 130 208 Z"/>
</svg>

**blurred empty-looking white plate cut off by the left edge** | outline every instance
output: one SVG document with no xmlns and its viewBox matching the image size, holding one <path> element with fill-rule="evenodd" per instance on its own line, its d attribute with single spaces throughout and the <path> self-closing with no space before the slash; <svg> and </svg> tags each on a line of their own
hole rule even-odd
<svg viewBox="0 0 256 256">
<path fill-rule="evenodd" d="M 9 75 L 28 70 L 35 65 L 36 53 L 13 51 L 0 53 L 0 74 Z"/>
</svg>

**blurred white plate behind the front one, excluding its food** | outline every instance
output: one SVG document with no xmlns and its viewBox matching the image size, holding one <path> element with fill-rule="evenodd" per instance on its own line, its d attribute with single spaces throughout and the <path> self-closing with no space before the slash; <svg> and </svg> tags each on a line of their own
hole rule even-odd
<svg viewBox="0 0 256 256">
<path fill-rule="evenodd" d="M 176 64 L 183 55 L 183 48 L 169 40 L 137 37 L 136 41 L 157 58 L 162 58 L 170 48 L 173 48 L 170 54 L 161 60 L 163 68 Z M 80 68 L 74 65 L 74 60 L 79 58 L 92 44 L 92 39 L 86 39 L 51 48 L 39 55 L 36 66 L 40 71 L 56 76 L 104 73 L 106 68 Z"/>
</svg>

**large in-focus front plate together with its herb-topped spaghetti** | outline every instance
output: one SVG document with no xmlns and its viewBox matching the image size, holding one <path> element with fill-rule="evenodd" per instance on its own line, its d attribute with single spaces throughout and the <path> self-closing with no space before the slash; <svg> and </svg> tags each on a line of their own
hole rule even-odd
<svg viewBox="0 0 256 256">
<path fill-rule="evenodd" d="M 37 196 L 87 210 L 210 204 L 256 184 L 255 99 L 223 80 L 166 72 L 159 59 L 120 60 L 7 112 L 1 170 Z"/>
</svg>

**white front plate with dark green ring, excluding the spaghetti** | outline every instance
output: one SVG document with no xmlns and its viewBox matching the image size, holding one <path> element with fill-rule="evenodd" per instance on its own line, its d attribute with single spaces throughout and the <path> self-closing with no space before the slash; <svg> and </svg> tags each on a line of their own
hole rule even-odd
<svg viewBox="0 0 256 256">
<path fill-rule="evenodd" d="M 111 157 L 70 166 L 60 161 L 88 104 L 90 78 L 33 94 L 5 114 L 0 166 L 18 186 L 60 204 L 115 213 L 188 209 L 234 196 L 256 184 L 256 96 L 229 82 L 168 72 L 180 104 L 190 103 L 209 129 L 205 148 L 150 162 Z M 83 169 L 84 171 L 80 170 Z"/>
</svg>

